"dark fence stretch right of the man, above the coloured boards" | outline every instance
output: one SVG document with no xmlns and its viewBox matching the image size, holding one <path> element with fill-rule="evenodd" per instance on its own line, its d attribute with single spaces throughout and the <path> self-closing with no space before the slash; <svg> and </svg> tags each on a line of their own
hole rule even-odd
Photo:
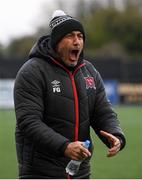
<svg viewBox="0 0 142 180">
<path fill-rule="evenodd" d="M 142 83 L 142 60 L 118 58 L 96 58 L 90 60 L 103 79 L 115 79 L 120 83 Z"/>
</svg>

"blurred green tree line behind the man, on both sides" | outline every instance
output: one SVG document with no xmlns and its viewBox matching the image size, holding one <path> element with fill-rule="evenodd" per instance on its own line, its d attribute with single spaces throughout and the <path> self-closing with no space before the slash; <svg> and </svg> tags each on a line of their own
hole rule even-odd
<svg viewBox="0 0 142 180">
<path fill-rule="evenodd" d="M 141 59 L 142 14 L 139 6 L 128 4 L 120 10 L 111 6 L 104 8 L 92 2 L 88 11 L 83 13 L 83 8 L 83 1 L 79 1 L 76 16 L 85 28 L 87 56 Z M 31 36 L 12 40 L 7 47 L 0 45 L 0 57 L 26 58 L 42 32 L 49 33 L 47 24 Z"/>
</svg>

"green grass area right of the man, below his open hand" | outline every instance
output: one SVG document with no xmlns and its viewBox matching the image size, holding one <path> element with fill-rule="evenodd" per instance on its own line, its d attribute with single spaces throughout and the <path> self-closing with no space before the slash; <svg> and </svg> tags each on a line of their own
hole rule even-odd
<svg viewBox="0 0 142 180">
<path fill-rule="evenodd" d="M 107 148 L 93 134 L 92 178 L 142 178 L 142 107 L 117 107 L 118 118 L 126 135 L 127 145 L 115 157 L 106 157 Z"/>
</svg>

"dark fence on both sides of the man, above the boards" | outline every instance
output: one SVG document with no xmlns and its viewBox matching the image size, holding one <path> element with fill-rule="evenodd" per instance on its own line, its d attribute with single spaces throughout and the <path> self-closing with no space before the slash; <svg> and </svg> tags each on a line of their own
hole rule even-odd
<svg viewBox="0 0 142 180">
<path fill-rule="evenodd" d="M 113 79 L 120 83 L 142 83 L 142 60 L 89 59 L 103 79 Z M 15 78 L 23 63 L 24 61 L 19 59 L 0 59 L 0 79 Z"/>
</svg>

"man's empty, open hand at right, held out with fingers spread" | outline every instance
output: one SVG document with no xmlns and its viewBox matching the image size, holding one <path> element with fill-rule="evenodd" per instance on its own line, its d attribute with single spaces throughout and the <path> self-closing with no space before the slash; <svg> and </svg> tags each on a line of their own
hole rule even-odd
<svg viewBox="0 0 142 180">
<path fill-rule="evenodd" d="M 110 142 L 110 145 L 111 145 L 111 148 L 108 150 L 107 156 L 108 157 L 115 156 L 121 148 L 120 140 L 117 137 L 113 136 L 112 134 L 110 134 L 106 131 L 100 131 L 100 133 L 102 136 L 104 136 L 108 139 L 108 141 Z"/>
</svg>

